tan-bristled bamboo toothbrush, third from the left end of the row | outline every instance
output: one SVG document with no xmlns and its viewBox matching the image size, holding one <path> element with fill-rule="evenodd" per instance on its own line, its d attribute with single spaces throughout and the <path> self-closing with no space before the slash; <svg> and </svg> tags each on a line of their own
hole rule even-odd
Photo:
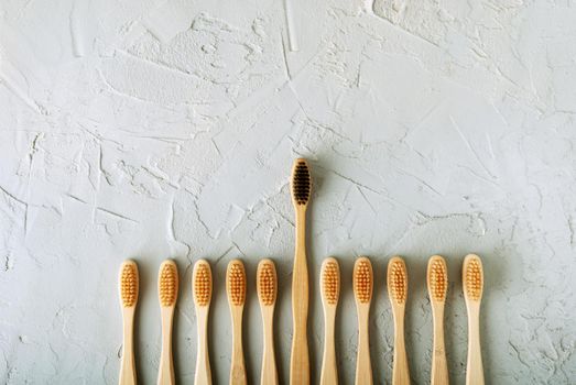
<svg viewBox="0 0 576 385">
<path fill-rule="evenodd" d="M 208 352 L 208 311 L 211 300 L 211 270 L 208 262 L 198 260 L 192 273 L 192 293 L 196 308 L 198 349 L 196 356 L 195 385 L 211 385 L 210 358 Z"/>
</svg>

